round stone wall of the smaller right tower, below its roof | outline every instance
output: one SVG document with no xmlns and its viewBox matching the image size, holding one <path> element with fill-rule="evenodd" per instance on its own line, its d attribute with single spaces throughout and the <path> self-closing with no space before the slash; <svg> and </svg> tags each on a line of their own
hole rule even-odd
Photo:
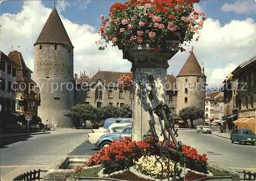
<svg viewBox="0 0 256 181">
<path fill-rule="evenodd" d="M 181 76 L 177 77 L 177 114 L 187 106 L 196 106 L 204 110 L 206 77 Z M 186 92 L 187 88 L 187 92 Z M 187 98 L 187 102 L 185 102 Z"/>
</svg>

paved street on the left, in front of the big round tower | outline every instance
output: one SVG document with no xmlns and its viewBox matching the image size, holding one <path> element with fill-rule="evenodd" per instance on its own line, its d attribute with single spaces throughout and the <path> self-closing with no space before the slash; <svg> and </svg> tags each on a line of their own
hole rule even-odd
<svg viewBox="0 0 256 181">
<path fill-rule="evenodd" d="M 86 141 L 89 132 L 91 129 L 56 129 L 51 134 L 3 140 L 0 150 L 2 179 L 12 180 L 29 170 L 45 170 L 58 156 L 71 153 Z"/>
</svg>

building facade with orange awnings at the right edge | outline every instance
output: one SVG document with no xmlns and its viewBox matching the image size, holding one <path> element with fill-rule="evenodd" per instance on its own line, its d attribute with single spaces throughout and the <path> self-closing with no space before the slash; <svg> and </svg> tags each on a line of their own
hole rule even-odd
<svg viewBox="0 0 256 181">
<path fill-rule="evenodd" d="M 233 79 L 239 82 L 239 128 L 249 128 L 255 133 L 256 127 L 256 56 L 245 61 L 232 72 Z"/>
</svg>

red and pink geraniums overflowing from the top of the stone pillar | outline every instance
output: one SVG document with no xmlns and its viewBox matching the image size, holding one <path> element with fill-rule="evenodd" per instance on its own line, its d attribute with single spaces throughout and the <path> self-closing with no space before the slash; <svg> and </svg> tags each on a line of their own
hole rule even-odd
<svg viewBox="0 0 256 181">
<path fill-rule="evenodd" d="M 122 44 L 125 48 L 133 48 L 144 41 L 161 49 L 158 42 L 170 42 L 184 51 L 184 42 L 190 42 L 194 35 L 196 40 L 206 19 L 205 13 L 195 11 L 193 4 L 200 0 L 129 0 L 111 6 L 108 17 L 101 15 L 102 25 L 98 32 L 103 41 L 96 41 L 99 50 L 106 44 L 112 46 Z M 103 43 L 106 43 L 103 45 Z M 161 44 L 161 43 L 160 43 Z M 144 44 L 145 46 L 145 44 Z"/>
</svg>

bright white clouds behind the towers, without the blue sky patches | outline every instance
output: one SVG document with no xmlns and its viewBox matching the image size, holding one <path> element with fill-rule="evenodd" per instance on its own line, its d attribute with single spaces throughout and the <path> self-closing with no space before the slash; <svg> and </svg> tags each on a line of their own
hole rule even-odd
<svg viewBox="0 0 256 181">
<path fill-rule="evenodd" d="M 33 44 L 50 13 L 51 9 L 40 1 L 25 1 L 21 12 L 3 14 L 1 49 L 8 54 L 12 46 L 14 50 L 20 46 L 27 66 L 33 70 Z M 131 62 L 122 59 L 118 48 L 110 47 L 103 52 L 97 49 L 95 41 L 99 36 L 92 26 L 77 25 L 63 17 L 62 22 L 75 47 L 75 73 L 86 71 L 90 75 L 89 72 L 96 73 L 99 66 L 101 71 L 130 71 Z M 204 62 L 207 83 L 211 86 L 220 84 L 236 65 L 256 54 L 256 23 L 251 18 L 233 20 L 224 26 L 219 20 L 207 19 L 201 34 L 199 41 L 192 41 L 190 47 L 194 46 L 199 63 Z M 177 75 L 188 55 L 188 52 L 177 53 L 169 61 L 168 73 Z"/>
</svg>

